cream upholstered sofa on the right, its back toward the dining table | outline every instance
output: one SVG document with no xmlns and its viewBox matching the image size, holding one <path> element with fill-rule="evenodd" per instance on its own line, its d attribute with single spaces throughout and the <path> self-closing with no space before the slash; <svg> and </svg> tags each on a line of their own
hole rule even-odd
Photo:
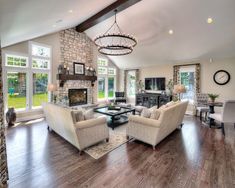
<svg viewBox="0 0 235 188">
<path fill-rule="evenodd" d="M 127 125 L 127 137 L 155 146 L 171 132 L 182 126 L 182 121 L 188 101 L 177 102 L 172 106 L 161 109 L 159 118 L 150 119 L 142 116 L 130 115 Z"/>
</svg>

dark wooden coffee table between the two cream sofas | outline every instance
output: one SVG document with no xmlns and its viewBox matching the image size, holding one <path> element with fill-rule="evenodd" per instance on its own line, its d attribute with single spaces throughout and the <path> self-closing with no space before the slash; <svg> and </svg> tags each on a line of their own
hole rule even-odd
<svg viewBox="0 0 235 188">
<path fill-rule="evenodd" d="M 107 115 L 109 117 L 108 126 L 115 127 L 128 122 L 127 113 L 135 115 L 135 109 L 129 107 L 120 107 L 118 110 L 110 110 L 108 106 L 94 108 L 94 112 Z"/>
</svg>

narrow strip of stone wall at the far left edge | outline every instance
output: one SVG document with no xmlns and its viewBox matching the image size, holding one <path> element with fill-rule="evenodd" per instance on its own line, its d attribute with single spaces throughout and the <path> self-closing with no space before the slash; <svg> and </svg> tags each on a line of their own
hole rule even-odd
<svg viewBox="0 0 235 188">
<path fill-rule="evenodd" d="M 2 87 L 2 56 L 0 46 L 0 187 L 3 187 L 8 180 L 6 138 L 3 110 L 3 87 Z"/>
</svg>

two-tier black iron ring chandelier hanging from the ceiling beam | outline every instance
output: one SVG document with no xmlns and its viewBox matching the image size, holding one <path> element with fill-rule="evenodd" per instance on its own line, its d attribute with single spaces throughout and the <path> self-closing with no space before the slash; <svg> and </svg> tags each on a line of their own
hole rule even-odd
<svg viewBox="0 0 235 188">
<path fill-rule="evenodd" d="M 137 40 L 131 35 L 124 34 L 117 24 L 117 10 L 115 10 L 115 21 L 111 27 L 94 39 L 98 51 L 104 55 L 121 56 L 130 54 Z"/>
</svg>

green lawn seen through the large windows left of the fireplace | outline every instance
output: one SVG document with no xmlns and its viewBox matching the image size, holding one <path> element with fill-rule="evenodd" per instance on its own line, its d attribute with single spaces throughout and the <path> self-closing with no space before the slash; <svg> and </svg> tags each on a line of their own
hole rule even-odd
<svg viewBox="0 0 235 188">
<path fill-rule="evenodd" d="M 48 101 L 48 94 L 35 94 L 33 95 L 33 106 L 41 106 L 42 102 Z M 8 95 L 8 107 L 25 108 L 26 107 L 26 97 L 21 96 L 10 96 Z"/>
</svg>

